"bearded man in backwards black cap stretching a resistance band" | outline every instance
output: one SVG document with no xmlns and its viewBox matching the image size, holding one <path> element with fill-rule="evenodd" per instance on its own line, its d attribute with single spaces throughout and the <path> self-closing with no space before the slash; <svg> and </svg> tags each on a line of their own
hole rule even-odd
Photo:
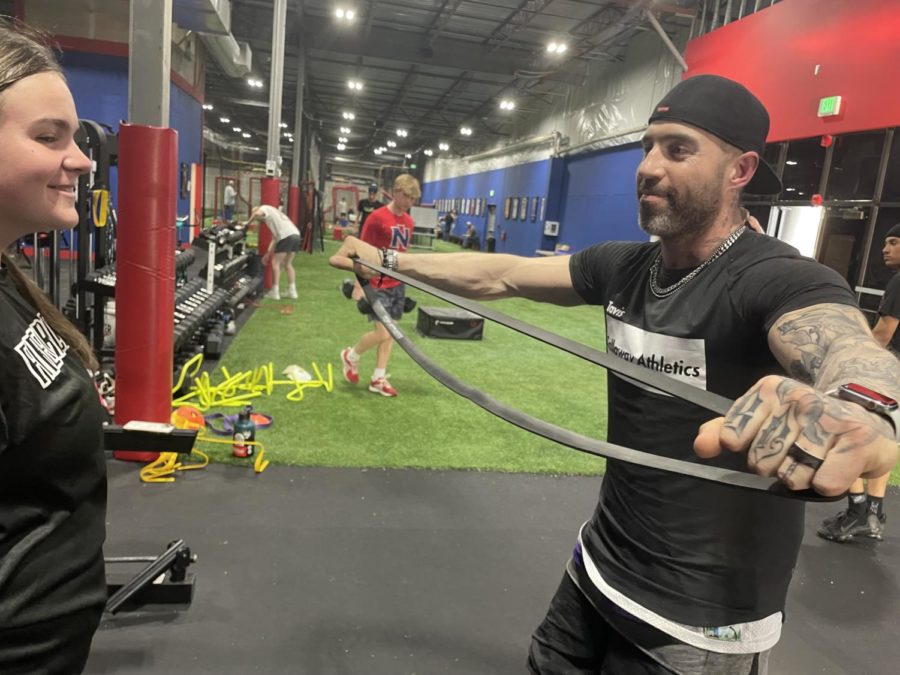
<svg viewBox="0 0 900 675">
<path fill-rule="evenodd" d="M 860 405 L 860 386 L 897 399 L 900 363 L 837 273 L 746 227 L 741 193 L 781 189 L 762 159 L 768 129 L 746 88 L 691 77 L 654 108 L 642 139 L 640 223 L 658 241 L 565 257 L 401 253 L 385 264 L 470 297 L 601 307 L 609 353 L 737 399 L 710 420 L 609 373 L 609 441 L 840 494 L 896 460 L 898 416 Z M 351 238 L 331 264 L 353 269 L 356 256 L 380 261 Z M 800 501 L 608 460 L 528 667 L 764 673 L 802 535 Z"/>
</svg>

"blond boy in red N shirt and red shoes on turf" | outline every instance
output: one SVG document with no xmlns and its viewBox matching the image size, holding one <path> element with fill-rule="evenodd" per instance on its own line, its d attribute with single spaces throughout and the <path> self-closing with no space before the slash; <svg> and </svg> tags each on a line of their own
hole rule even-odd
<svg viewBox="0 0 900 675">
<path fill-rule="evenodd" d="M 366 227 L 362 233 L 363 240 L 378 249 L 385 259 L 396 255 L 397 252 L 405 251 L 413 232 L 413 219 L 407 211 L 421 196 L 422 189 L 419 187 L 418 180 L 409 174 L 397 176 L 390 204 L 372 211 L 366 219 Z M 356 239 L 354 238 L 354 240 Z M 391 318 L 399 321 L 403 316 L 403 306 L 406 303 L 404 285 L 390 277 L 373 279 L 370 283 L 376 289 L 378 297 Z M 358 300 L 361 297 L 363 297 L 363 290 L 357 283 L 353 289 L 353 299 Z M 359 357 L 375 347 L 377 350 L 375 370 L 369 381 L 369 391 L 382 396 L 394 397 L 397 395 L 397 390 L 387 379 L 387 365 L 391 358 L 394 340 L 382 323 L 375 318 L 372 311 L 369 311 L 367 316 L 369 321 L 375 324 L 375 327 L 369 332 L 363 333 L 355 345 L 347 347 L 341 352 L 344 379 L 351 384 L 359 382 Z"/>
</svg>

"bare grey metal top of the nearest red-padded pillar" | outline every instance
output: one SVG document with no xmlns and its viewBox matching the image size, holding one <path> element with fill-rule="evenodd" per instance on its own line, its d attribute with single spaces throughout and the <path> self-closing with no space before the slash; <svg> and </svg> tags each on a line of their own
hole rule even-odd
<svg viewBox="0 0 900 675">
<path fill-rule="evenodd" d="M 169 126 L 172 0 L 131 0 L 128 121 Z"/>
</svg>

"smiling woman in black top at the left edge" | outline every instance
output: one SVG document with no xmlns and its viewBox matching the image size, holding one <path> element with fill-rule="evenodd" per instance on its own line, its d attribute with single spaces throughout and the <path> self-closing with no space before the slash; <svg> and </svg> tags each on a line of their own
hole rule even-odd
<svg viewBox="0 0 900 675">
<path fill-rule="evenodd" d="M 0 236 L 72 228 L 91 161 L 41 36 L 0 20 Z M 84 337 L 0 258 L 0 672 L 80 673 L 106 602 L 106 457 Z"/>
</svg>

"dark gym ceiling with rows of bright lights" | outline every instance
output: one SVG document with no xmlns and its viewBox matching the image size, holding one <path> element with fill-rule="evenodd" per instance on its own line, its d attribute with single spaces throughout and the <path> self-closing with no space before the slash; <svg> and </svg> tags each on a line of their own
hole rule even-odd
<svg viewBox="0 0 900 675">
<path fill-rule="evenodd" d="M 674 37 L 684 34 L 702 5 L 703 0 L 288 0 L 284 132 L 294 125 L 302 51 L 304 115 L 326 159 L 400 163 L 405 154 L 418 157 L 426 148 L 439 156 L 439 143 L 449 145 L 445 154 L 472 154 L 511 140 L 517 125 L 522 128 L 523 120 L 580 86 L 595 64 L 622 60 L 633 36 L 654 30 L 648 8 Z M 261 155 L 273 11 L 273 0 L 232 0 L 232 34 L 250 45 L 248 77 L 261 80 L 261 88 L 225 75 L 213 58 L 206 75 L 207 102 L 230 118 L 226 124 L 218 114 L 207 115 L 207 126 L 225 136 L 240 126 Z M 565 51 L 549 51 L 551 43 L 565 45 Z M 350 81 L 362 89 L 351 89 Z M 502 109 L 501 101 L 515 107 Z M 463 127 L 471 135 L 462 135 Z M 408 135 L 398 136 L 398 129 Z M 341 151 L 340 138 L 346 139 Z M 289 157 L 291 143 L 282 140 L 282 155 Z M 374 154 L 379 147 L 387 148 L 381 157 Z"/>
</svg>

